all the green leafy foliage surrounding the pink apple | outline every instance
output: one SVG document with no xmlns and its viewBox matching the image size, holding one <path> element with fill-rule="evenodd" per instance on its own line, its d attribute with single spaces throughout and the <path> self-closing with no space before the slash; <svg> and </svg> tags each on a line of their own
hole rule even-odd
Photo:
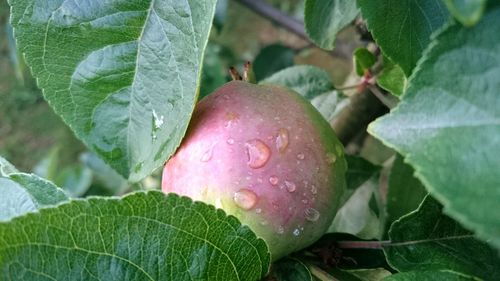
<svg viewBox="0 0 500 281">
<path fill-rule="evenodd" d="M 499 280 L 498 1 L 250 1 L 275 25 L 237 2 L 0 3 L 0 279 Z M 328 233 L 273 264 L 235 217 L 151 190 L 247 60 L 355 130 Z"/>
</svg>

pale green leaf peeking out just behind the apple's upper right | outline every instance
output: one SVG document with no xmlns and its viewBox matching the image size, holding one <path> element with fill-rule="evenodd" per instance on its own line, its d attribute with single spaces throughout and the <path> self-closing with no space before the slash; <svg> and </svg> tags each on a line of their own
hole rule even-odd
<svg viewBox="0 0 500 281">
<path fill-rule="evenodd" d="M 259 84 L 276 84 L 301 94 L 308 100 L 334 90 L 330 75 L 315 66 L 297 65 L 281 70 Z"/>
</svg>

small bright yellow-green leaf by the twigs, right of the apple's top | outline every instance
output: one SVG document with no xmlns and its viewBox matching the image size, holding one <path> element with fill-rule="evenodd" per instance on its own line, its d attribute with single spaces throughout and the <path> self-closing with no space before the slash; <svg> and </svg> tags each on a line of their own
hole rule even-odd
<svg viewBox="0 0 500 281">
<path fill-rule="evenodd" d="M 389 93 L 399 97 L 406 88 L 406 76 L 397 64 L 384 58 L 384 68 L 377 78 L 377 85 Z"/>
</svg>

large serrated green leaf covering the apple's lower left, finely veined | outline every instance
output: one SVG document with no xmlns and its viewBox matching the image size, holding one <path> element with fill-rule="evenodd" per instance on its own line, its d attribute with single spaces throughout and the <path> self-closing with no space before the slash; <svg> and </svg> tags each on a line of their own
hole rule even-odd
<svg viewBox="0 0 500 281">
<path fill-rule="evenodd" d="M 0 224 L 8 280 L 258 280 L 265 242 L 222 210 L 161 192 L 77 199 Z"/>
</svg>

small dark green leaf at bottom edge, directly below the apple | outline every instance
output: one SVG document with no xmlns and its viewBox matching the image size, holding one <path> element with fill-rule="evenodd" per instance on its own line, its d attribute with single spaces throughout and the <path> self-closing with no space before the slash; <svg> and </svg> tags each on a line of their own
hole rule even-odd
<svg viewBox="0 0 500 281">
<path fill-rule="evenodd" d="M 309 268 L 296 258 L 284 258 L 273 264 L 266 280 L 314 281 Z"/>
</svg>

